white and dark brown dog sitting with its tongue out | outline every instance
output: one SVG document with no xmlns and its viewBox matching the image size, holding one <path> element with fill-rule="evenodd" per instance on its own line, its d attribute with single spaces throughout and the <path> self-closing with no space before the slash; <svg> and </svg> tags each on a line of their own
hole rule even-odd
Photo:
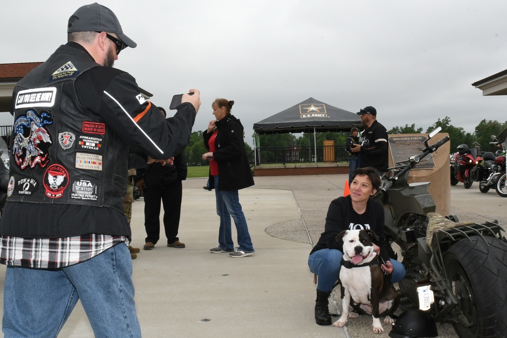
<svg viewBox="0 0 507 338">
<path fill-rule="evenodd" d="M 378 236 L 371 230 L 345 230 L 336 236 L 343 239 L 343 260 L 339 279 L 342 292 L 342 315 L 333 326 L 342 327 L 348 318 L 357 313 L 349 313 L 350 299 L 353 304 L 373 317 L 373 332 L 382 333 L 384 329 L 380 316 L 385 316 L 384 324 L 391 325 L 389 316 L 396 311 L 400 298 L 392 283 L 386 280 L 378 263 L 378 255 L 373 249 L 372 239 Z"/>
</svg>

